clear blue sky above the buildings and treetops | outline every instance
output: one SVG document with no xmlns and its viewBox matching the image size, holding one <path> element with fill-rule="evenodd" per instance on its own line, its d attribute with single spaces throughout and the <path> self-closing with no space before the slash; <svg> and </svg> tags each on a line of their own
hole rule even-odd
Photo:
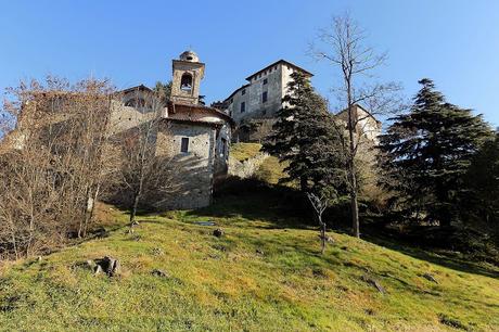
<svg viewBox="0 0 499 332">
<path fill-rule="evenodd" d="M 328 95 L 337 73 L 307 55 L 317 29 L 348 11 L 388 52 L 383 80 L 410 98 L 428 77 L 448 100 L 499 126 L 499 1 L 0 0 L 0 89 L 47 74 L 108 77 L 118 88 L 171 76 L 192 47 L 206 63 L 202 93 L 223 99 L 260 67 L 285 59 L 316 74 Z"/>
</svg>

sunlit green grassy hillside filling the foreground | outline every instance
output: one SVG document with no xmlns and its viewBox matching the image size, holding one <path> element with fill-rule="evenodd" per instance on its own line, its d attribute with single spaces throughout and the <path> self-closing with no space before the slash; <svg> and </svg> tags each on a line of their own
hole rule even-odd
<svg viewBox="0 0 499 332">
<path fill-rule="evenodd" d="M 104 238 L 1 267 L 1 330 L 499 329 L 497 269 L 340 233 L 321 256 L 317 231 L 286 216 L 278 195 L 143 216 L 133 234 L 121 212 L 102 206 L 101 218 L 111 230 Z M 206 220 L 226 235 L 194 224 Z M 121 261 L 120 276 L 94 277 L 85 267 L 104 255 Z"/>
</svg>

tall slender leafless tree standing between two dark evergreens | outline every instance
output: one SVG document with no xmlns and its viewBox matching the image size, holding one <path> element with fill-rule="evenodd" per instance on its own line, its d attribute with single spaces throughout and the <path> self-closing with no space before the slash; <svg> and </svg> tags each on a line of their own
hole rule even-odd
<svg viewBox="0 0 499 332">
<path fill-rule="evenodd" d="M 334 89 L 341 110 L 347 111 L 346 128 L 347 174 L 351 206 L 354 235 L 360 237 L 358 193 L 359 183 L 356 175 L 356 156 L 359 146 L 366 142 L 367 119 L 371 116 L 385 115 L 400 108 L 400 98 L 396 92 L 399 85 L 394 82 L 372 82 L 375 69 L 384 64 L 386 54 L 376 54 L 366 46 L 366 34 L 348 14 L 332 20 L 331 26 L 321 29 L 319 46 L 311 44 L 311 55 L 340 68 L 342 84 Z M 358 114 L 358 104 L 363 104 L 369 114 Z"/>
</svg>

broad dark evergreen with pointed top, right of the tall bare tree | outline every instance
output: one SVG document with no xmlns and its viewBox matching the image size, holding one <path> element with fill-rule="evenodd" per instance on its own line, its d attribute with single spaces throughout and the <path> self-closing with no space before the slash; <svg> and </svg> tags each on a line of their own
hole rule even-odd
<svg viewBox="0 0 499 332">
<path fill-rule="evenodd" d="M 408 213 L 446 226 L 459 217 L 464 175 L 490 130 L 482 116 L 447 103 L 432 80 L 419 84 L 410 113 L 392 118 L 381 137 L 382 167 Z"/>
</svg>

